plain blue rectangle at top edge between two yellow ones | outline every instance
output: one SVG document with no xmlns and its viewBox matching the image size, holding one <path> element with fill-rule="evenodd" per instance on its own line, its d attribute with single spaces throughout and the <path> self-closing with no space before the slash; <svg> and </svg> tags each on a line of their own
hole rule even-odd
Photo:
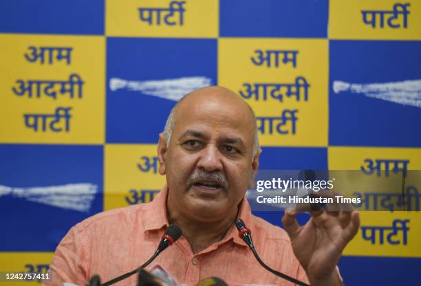
<svg viewBox="0 0 421 286">
<path fill-rule="evenodd" d="M 219 1 L 219 36 L 326 38 L 327 0 Z"/>
</svg>

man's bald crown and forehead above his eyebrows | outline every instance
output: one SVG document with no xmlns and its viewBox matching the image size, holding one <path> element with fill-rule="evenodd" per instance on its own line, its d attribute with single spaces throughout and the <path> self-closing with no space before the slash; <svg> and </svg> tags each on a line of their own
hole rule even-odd
<svg viewBox="0 0 421 286">
<path fill-rule="evenodd" d="M 254 142 L 255 117 L 244 100 L 229 89 L 208 87 L 182 99 L 174 111 L 174 135 L 187 135 L 218 142 Z"/>
</svg>

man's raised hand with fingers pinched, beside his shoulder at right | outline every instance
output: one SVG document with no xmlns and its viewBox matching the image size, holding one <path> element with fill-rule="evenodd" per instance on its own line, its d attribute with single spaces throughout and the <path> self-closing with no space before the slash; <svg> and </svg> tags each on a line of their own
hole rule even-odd
<svg viewBox="0 0 421 286">
<path fill-rule="evenodd" d="M 358 232 L 358 213 L 324 210 L 310 213 L 311 219 L 305 225 L 299 225 L 296 211 L 285 211 L 282 223 L 290 236 L 292 250 L 311 285 L 341 285 L 335 268 L 343 249 Z"/>
</svg>

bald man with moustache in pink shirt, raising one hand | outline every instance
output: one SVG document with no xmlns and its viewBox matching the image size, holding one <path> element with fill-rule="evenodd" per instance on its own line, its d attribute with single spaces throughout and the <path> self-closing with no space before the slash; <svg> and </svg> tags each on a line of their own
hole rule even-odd
<svg viewBox="0 0 421 286">
<path fill-rule="evenodd" d="M 159 265 L 178 283 L 210 276 L 228 285 L 292 285 L 266 271 L 242 241 L 234 221 L 254 234 L 261 259 L 311 285 L 342 285 L 336 264 L 356 234 L 358 214 L 312 213 L 301 226 L 285 212 L 285 230 L 251 214 L 244 195 L 259 168 L 259 140 L 252 109 L 223 87 L 198 89 L 178 102 L 159 136 L 159 172 L 166 186 L 151 202 L 102 212 L 74 226 L 56 250 L 52 280 L 85 285 L 136 269 L 152 256 L 166 226 L 181 238 L 146 269 Z M 136 276 L 116 285 L 135 285 Z"/>
</svg>

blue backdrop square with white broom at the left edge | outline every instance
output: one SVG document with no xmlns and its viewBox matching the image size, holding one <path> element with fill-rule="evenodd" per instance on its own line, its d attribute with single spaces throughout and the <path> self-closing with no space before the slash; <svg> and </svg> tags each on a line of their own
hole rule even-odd
<svg viewBox="0 0 421 286">
<path fill-rule="evenodd" d="M 102 146 L 0 144 L 0 157 L 0 251 L 52 252 L 102 211 Z"/>
</svg>

